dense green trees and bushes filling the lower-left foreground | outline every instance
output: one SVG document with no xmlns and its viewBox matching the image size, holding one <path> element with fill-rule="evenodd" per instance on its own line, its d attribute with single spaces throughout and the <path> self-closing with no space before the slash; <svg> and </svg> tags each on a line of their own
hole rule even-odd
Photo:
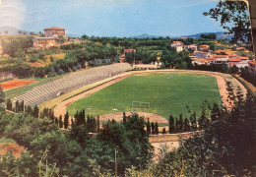
<svg viewBox="0 0 256 177">
<path fill-rule="evenodd" d="M 153 147 L 144 119 L 137 114 L 127 117 L 125 124 L 108 121 L 91 137 L 86 126 L 89 121 L 76 121 L 63 132 L 58 129 L 63 122 L 54 119 L 50 109 L 44 109 L 40 116 L 35 112 L 35 108 L 16 115 L 0 112 L 0 142 L 15 141 L 27 148 L 18 159 L 11 152 L 0 155 L 1 177 L 97 176 L 99 166 L 100 172 L 114 174 L 115 151 L 121 176 L 127 168 L 145 169 L 151 162 Z"/>
</svg>

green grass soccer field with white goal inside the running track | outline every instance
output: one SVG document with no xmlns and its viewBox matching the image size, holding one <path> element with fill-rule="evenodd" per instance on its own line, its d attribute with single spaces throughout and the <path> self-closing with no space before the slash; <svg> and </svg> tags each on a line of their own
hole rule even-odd
<svg viewBox="0 0 256 177">
<path fill-rule="evenodd" d="M 77 110 L 97 116 L 118 111 L 144 111 L 165 118 L 177 117 L 191 111 L 201 112 L 202 101 L 207 99 L 221 105 L 216 78 L 186 73 L 152 73 L 128 77 L 105 89 L 84 97 L 67 108 L 70 115 Z M 150 102 L 150 108 L 132 108 L 132 102 Z M 137 106 L 136 103 L 134 106 Z M 147 107 L 147 104 L 144 104 Z"/>
</svg>

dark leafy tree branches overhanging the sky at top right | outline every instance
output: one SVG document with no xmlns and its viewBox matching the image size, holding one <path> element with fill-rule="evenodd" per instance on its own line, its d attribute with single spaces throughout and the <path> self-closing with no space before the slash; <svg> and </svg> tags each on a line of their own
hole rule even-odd
<svg viewBox="0 0 256 177">
<path fill-rule="evenodd" d="M 204 12 L 203 15 L 220 21 L 221 27 L 227 29 L 228 33 L 233 34 L 232 42 L 240 40 L 251 45 L 251 25 L 245 2 L 220 1 L 216 8 Z"/>
</svg>

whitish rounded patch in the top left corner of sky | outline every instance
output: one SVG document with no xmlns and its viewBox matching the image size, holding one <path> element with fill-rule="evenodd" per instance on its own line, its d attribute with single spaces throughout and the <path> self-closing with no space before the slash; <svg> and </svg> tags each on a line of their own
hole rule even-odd
<svg viewBox="0 0 256 177">
<path fill-rule="evenodd" d="M 25 21 L 26 8 L 21 0 L 7 0 L 1 3 L 0 26 L 20 29 Z"/>
</svg>

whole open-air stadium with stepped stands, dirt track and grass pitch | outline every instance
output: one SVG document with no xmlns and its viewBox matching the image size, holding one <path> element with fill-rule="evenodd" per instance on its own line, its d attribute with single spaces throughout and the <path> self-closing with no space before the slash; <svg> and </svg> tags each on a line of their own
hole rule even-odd
<svg viewBox="0 0 256 177">
<path fill-rule="evenodd" d="M 70 120 L 77 111 L 108 119 L 122 120 L 123 112 L 137 112 L 150 121 L 167 126 L 169 115 L 189 116 L 200 114 L 206 100 L 231 109 L 226 83 L 234 93 L 246 89 L 233 77 L 223 73 L 189 70 L 140 70 L 134 71 L 128 63 L 85 69 L 40 85 L 12 99 L 13 104 L 53 108 L 54 115 Z M 71 123 L 71 121 L 70 121 Z"/>
</svg>

